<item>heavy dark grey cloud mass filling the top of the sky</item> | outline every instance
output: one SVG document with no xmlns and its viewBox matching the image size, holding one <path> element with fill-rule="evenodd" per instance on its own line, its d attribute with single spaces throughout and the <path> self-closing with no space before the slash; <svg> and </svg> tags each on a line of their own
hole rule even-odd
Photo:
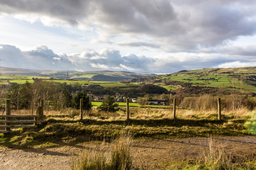
<svg viewBox="0 0 256 170">
<path fill-rule="evenodd" d="M 161 47 L 168 52 L 197 51 L 225 45 L 256 31 L 253 0 L 2 0 L 1 13 L 37 17 L 43 23 L 68 23 L 94 29 L 99 37 L 151 37 L 152 43 L 128 46 Z M 26 20 L 26 17 L 24 19 Z"/>
</svg>

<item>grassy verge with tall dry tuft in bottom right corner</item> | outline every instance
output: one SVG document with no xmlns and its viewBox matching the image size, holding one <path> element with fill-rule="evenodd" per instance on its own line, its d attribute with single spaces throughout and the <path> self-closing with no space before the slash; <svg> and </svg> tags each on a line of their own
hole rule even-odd
<svg viewBox="0 0 256 170">
<path fill-rule="evenodd" d="M 255 170 L 256 160 L 248 160 L 246 157 L 232 157 L 227 153 L 225 144 L 208 137 L 202 147 L 199 158 L 187 161 L 165 162 L 162 165 L 166 170 Z"/>
</svg>

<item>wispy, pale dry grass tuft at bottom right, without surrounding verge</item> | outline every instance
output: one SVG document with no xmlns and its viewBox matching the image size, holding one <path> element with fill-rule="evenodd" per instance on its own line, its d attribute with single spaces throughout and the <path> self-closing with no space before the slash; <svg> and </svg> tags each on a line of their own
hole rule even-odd
<svg viewBox="0 0 256 170">
<path fill-rule="evenodd" d="M 202 149 L 197 169 L 205 170 L 233 170 L 230 155 L 226 154 L 225 147 L 221 143 L 208 138 L 209 148 Z"/>
</svg>

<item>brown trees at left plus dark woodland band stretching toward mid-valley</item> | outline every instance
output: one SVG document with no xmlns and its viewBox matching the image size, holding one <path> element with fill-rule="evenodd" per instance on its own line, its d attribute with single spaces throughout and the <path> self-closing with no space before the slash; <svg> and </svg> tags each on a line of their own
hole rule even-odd
<svg viewBox="0 0 256 170">
<path fill-rule="evenodd" d="M 121 89 L 119 87 L 90 87 L 82 85 L 67 85 L 67 83 L 56 83 L 48 80 L 35 80 L 34 83 L 26 81 L 24 84 L 2 85 L 0 91 L 0 102 L 4 104 L 5 99 L 10 99 L 12 105 L 18 108 L 37 107 L 43 99 L 46 108 L 61 109 L 66 107 L 80 106 L 83 99 L 84 109 L 90 109 L 91 95 L 124 95 L 127 97 L 143 96 L 145 94 L 168 93 L 163 87 L 151 84 L 143 84 L 140 87 Z M 89 94 L 89 95 L 88 95 Z M 99 108 L 100 109 L 100 108 Z M 101 107 L 106 110 L 105 107 Z"/>
</svg>

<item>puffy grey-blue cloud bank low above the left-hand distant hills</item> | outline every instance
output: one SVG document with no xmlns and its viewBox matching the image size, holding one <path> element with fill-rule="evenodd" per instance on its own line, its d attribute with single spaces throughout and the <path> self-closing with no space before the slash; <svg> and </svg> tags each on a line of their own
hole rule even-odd
<svg viewBox="0 0 256 170">
<path fill-rule="evenodd" d="M 145 56 L 128 54 L 121 56 L 118 50 L 103 49 L 99 52 L 82 52 L 81 54 L 56 54 L 45 45 L 22 51 L 13 45 L 0 44 L 2 67 L 16 67 L 36 70 L 147 70 L 153 59 Z"/>
</svg>

